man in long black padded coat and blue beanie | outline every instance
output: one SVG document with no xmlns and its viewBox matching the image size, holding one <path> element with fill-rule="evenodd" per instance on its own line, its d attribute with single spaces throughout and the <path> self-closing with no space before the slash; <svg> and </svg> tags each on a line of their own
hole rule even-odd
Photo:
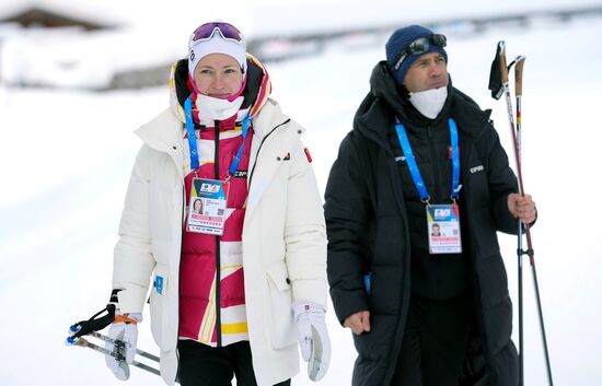
<svg viewBox="0 0 602 386">
<path fill-rule="evenodd" d="M 328 280 L 359 353 L 352 385 L 518 384 L 496 232 L 532 223 L 535 204 L 517 194 L 490 112 L 451 85 L 445 43 L 418 25 L 391 36 L 328 178 Z"/>
</svg>

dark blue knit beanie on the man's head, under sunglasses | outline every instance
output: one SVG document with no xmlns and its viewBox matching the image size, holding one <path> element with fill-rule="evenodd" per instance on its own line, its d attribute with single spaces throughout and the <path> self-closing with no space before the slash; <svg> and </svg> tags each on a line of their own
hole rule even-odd
<svg viewBox="0 0 602 386">
<path fill-rule="evenodd" d="M 428 28 L 425 28 L 419 25 L 410 25 L 407 27 L 400 28 L 391 35 L 389 40 L 385 45 L 386 50 L 386 65 L 389 66 L 389 70 L 393 74 L 393 78 L 395 78 L 395 81 L 397 84 L 402 85 L 404 84 L 404 78 L 407 73 L 407 70 L 409 70 L 409 67 L 412 63 L 416 61 L 419 57 L 421 57 L 425 54 L 428 52 L 439 52 L 443 56 L 445 59 L 445 63 L 448 62 L 448 52 L 445 50 L 435 44 L 429 45 L 429 49 L 424 54 L 409 54 L 400 68 L 395 70 L 395 65 L 400 61 L 402 58 L 402 55 L 405 52 L 407 47 L 412 44 L 412 42 L 416 40 L 419 37 L 429 37 L 432 36 L 435 33 Z"/>
</svg>

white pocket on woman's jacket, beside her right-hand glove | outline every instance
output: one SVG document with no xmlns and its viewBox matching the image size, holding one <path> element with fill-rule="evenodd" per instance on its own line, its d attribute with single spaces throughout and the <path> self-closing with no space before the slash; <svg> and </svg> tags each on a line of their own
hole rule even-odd
<svg viewBox="0 0 602 386">
<path fill-rule="evenodd" d="M 297 331 L 292 320 L 291 289 L 287 267 L 278 261 L 267 267 L 268 312 L 267 335 L 273 349 L 281 349 L 297 343 Z"/>
</svg>

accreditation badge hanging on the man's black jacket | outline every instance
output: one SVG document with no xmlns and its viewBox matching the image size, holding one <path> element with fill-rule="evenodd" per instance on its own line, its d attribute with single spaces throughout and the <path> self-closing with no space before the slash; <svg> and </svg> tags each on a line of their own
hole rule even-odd
<svg viewBox="0 0 602 386">
<path fill-rule="evenodd" d="M 427 206 L 427 226 L 430 254 L 462 253 L 460 211 L 456 204 Z"/>
</svg>

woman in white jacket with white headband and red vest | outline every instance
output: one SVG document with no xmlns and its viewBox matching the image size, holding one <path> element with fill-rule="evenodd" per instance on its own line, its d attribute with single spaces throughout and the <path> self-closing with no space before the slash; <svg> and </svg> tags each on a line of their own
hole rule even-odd
<svg viewBox="0 0 602 386">
<path fill-rule="evenodd" d="M 266 70 L 231 24 L 199 26 L 188 54 L 172 67 L 171 108 L 137 131 L 112 294 L 131 323 L 109 329 L 131 346 L 107 365 L 129 376 L 151 286 L 169 385 L 290 385 L 298 341 L 317 381 L 331 355 L 326 234 L 303 129 L 268 97 Z"/>
</svg>

